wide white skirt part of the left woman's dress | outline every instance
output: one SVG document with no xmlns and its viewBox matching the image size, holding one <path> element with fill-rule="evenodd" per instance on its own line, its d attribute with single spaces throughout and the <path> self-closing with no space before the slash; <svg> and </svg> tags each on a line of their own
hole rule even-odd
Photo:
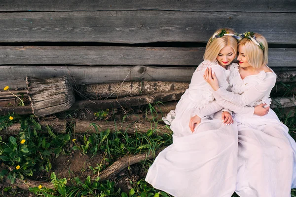
<svg viewBox="0 0 296 197">
<path fill-rule="evenodd" d="M 194 133 L 189 126 L 176 135 L 173 130 L 173 144 L 155 158 L 145 180 L 174 197 L 231 197 L 237 175 L 237 126 L 223 125 L 221 113 L 218 117 L 202 119 Z"/>
</svg>

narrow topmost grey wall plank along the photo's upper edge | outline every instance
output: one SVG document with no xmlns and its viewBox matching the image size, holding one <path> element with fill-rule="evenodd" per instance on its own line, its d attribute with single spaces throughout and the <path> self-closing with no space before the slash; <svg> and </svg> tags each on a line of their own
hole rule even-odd
<svg viewBox="0 0 296 197">
<path fill-rule="evenodd" d="M 0 11 L 79 11 L 79 10 L 180 10 L 295 12 L 295 0 L 1 0 Z"/>
</svg>

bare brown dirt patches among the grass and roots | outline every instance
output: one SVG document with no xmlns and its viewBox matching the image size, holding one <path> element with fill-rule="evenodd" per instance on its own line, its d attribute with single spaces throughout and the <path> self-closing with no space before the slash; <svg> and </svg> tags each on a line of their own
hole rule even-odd
<svg viewBox="0 0 296 197">
<path fill-rule="evenodd" d="M 70 155 L 60 155 L 58 158 L 52 160 L 52 169 L 49 173 L 34 174 L 32 180 L 45 181 L 49 180 L 51 172 L 55 172 L 58 178 L 67 178 L 69 181 L 71 178 L 79 177 L 80 179 L 92 176 L 94 171 L 89 166 L 96 167 L 101 162 L 108 165 L 103 159 L 102 154 L 97 154 L 93 157 L 83 155 L 80 151 L 72 151 Z M 105 162 L 105 163 L 104 163 Z M 2 164 L 1 168 L 5 168 Z M 95 173 L 97 174 L 97 170 Z M 142 164 L 134 164 L 129 168 L 122 170 L 114 179 L 110 181 L 115 182 L 115 190 L 128 193 L 129 190 L 136 186 L 136 182 L 145 178 L 146 171 Z M 0 182 L 0 197 L 37 197 L 29 191 L 21 190 L 18 188 L 12 188 L 6 183 Z"/>
</svg>

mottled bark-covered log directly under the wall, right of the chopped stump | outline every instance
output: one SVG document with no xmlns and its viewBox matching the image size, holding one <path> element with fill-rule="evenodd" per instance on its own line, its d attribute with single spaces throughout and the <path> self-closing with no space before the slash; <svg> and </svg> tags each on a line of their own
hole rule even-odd
<svg viewBox="0 0 296 197">
<path fill-rule="evenodd" d="M 81 93 L 90 99 L 122 98 L 156 92 L 185 90 L 188 82 L 176 81 L 126 81 L 123 83 L 100 83 L 81 86 Z"/>
</svg>

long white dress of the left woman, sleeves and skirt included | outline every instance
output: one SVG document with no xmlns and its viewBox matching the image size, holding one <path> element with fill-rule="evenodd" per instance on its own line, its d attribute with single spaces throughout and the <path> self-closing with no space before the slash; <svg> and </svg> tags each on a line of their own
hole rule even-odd
<svg viewBox="0 0 296 197">
<path fill-rule="evenodd" d="M 222 88 L 228 87 L 226 78 L 229 71 L 219 66 L 217 61 L 204 61 L 198 66 L 171 122 L 173 144 L 155 158 L 145 179 L 154 188 L 175 197 L 230 197 L 235 190 L 236 124 L 223 125 L 220 112 L 212 118 L 202 118 L 194 133 L 188 126 L 194 114 L 206 115 L 211 114 L 214 108 L 215 112 L 222 109 L 215 104 L 211 87 L 203 79 L 207 67 L 216 73 Z M 254 112 L 250 107 L 242 109 Z"/>
</svg>

